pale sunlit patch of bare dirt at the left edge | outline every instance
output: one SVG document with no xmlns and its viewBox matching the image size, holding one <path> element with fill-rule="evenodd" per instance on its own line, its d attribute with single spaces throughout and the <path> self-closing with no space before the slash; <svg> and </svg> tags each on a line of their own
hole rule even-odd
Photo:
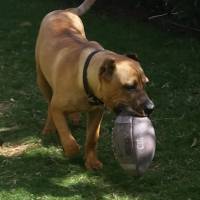
<svg viewBox="0 0 200 200">
<path fill-rule="evenodd" d="M 5 157 L 19 156 L 25 153 L 28 149 L 36 147 L 37 145 L 38 144 L 3 145 L 0 147 L 0 155 Z"/>
</svg>

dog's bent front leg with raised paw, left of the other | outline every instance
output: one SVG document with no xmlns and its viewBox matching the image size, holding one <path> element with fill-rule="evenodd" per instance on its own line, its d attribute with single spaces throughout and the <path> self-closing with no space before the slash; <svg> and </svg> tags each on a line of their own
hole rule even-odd
<svg viewBox="0 0 200 200">
<path fill-rule="evenodd" d="M 56 129 L 58 131 L 64 154 L 72 157 L 79 152 L 79 145 L 71 134 L 67 125 L 65 113 L 59 107 L 51 104 L 51 113 Z"/>
</svg>

